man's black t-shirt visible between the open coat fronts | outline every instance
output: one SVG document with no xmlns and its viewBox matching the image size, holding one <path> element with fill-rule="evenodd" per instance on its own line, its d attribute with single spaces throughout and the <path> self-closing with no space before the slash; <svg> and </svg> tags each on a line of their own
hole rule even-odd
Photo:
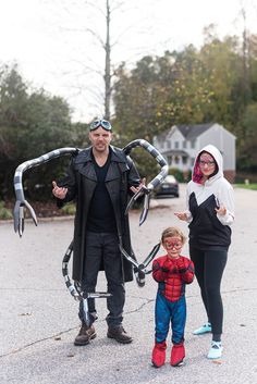
<svg viewBox="0 0 257 384">
<path fill-rule="evenodd" d="M 94 191 L 87 219 L 87 230 L 91 232 L 117 232 L 115 216 L 105 181 L 111 162 L 111 148 L 105 165 L 99 166 L 91 152 L 93 165 L 97 175 L 97 186 Z"/>
</svg>

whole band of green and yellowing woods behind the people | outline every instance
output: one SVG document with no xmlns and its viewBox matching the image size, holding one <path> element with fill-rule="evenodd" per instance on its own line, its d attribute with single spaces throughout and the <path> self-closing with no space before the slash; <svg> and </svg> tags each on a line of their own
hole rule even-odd
<svg viewBox="0 0 257 384">
<path fill-rule="evenodd" d="M 200 49 L 189 45 L 143 57 L 133 69 L 124 62 L 113 76 L 113 145 L 123 147 L 135 138 L 151 141 L 174 124 L 217 122 L 237 137 L 237 179 L 257 181 L 257 35 L 220 39 L 209 26 Z M 14 198 L 13 175 L 22 162 L 60 147 L 88 146 L 88 124 L 72 122 L 62 97 L 32 90 L 16 64 L 2 64 L 0 199 Z M 150 178 L 155 163 L 149 156 L 136 149 L 132 157 L 142 176 Z M 51 181 L 61 177 L 68 164 L 63 158 L 27 171 L 26 197 L 48 199 Z"/>
</svg>

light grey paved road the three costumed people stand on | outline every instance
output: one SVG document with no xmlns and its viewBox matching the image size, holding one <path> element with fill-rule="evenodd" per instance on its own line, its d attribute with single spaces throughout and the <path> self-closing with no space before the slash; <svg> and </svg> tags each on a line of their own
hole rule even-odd
<svg viewBox="0 0 257 384">
<path fill-rule="evenodd" d="M 0 222 L 0 383 L 1 384 L 253 384 L 257 381 L 257 193 L 235 190 L 236 222 L 224 273 L 224 354 L 220 363 L 206 359 L 210 336 L 193 336 L 205 321 L 197 283 L 187 287 L 186 359 L 183 368 L 150 364 L 154 343 L 154 305 L 157 285 L 147 277 L 144 288 L 126 285 L 124 326 L 131 345 L 106 337 L 105 299 L 98 300 L 97 338 L 75 347 L 77 306 L 64 286 L 61 261 L 72 238 L 73 222 L 26 223 L 24 236 L 11 223 Z M 154 207 L 156 207 L 154 209 Z M 138 228 L 132 212 L 133 244 L 143 260 L 168 225 L 180 225 L 173 212 L 184 208 L 181 198 L 152 201 L 147 221 Z M 185 247 L 184 253 L 187 253 Z M 106 287 L 99 275 L 98 289 Z M 170 345 L 169 345 L 170 350 Z M 169 354 L 169 351 L 168 351 Z M 169 358 L 169 356 L 168 356 Z"/>
</svg>

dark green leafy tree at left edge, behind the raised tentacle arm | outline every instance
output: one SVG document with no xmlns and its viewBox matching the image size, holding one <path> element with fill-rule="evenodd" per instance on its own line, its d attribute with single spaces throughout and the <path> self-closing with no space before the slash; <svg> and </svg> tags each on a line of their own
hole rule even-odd
<svg viewBox="0 0 257 384">
<path fill-rule="evenodd" d="M 0 71 L 0 183 L 1 198 L 13 196 L 12 179 L 15 168 L 58 147 L 74 143 L 71 112 L 60 97 L 47 95 L 44 89 L 29 94 L 17 66 L 2 66 Z M 60 162 L 61 163 L 61 162 Z M 33 191 L 61 172 L 61 168 L 45 166 L 29 172 L 25 186 Z M 44 175 L 44 176 L 42 176 Z"/>
</svg>

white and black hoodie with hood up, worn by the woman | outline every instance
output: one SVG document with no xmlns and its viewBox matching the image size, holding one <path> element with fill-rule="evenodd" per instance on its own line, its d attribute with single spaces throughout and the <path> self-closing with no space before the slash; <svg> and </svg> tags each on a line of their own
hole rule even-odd
<svg viewBox="0 0 257 384">
<path fill-rule="evenodd" d="M 198 158 L 203 151 L 210 153 L 218 164 L 218 172 L 205 184 L 195 182 L 199 176 Z M 189 245 L 201 250 L 228 249 L 234 221 L 234 193 L 223 176 L 222 156 L 212 145 L 204 147 L 196 157 L 192 181 L 187 184 L 186 202 Z M 217 214 L 215 208 L 219 207 L 225 207 L 225 215 Z"/>
</svg>

